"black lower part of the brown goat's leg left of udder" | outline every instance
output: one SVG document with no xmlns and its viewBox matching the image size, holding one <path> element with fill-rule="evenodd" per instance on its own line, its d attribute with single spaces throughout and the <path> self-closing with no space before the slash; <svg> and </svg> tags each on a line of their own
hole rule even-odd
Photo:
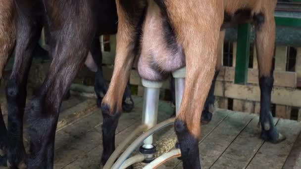
<svg viewBox="0 0 301 169">
<path fill-rule="evenodd" d="M 114 106 L 113 114 L 110 112 L 110 106 L 102 104 L 102 145 L 103 152 L 101 157 L 101 165 L 105 165 L 111 154 L 115 150 L 115 131 L 121 112 Z"/>
</svg>

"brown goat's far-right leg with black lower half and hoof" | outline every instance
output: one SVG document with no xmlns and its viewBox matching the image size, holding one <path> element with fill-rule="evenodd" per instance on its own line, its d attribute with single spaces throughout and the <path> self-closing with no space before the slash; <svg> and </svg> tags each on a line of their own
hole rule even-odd
<svg viewBox="0 0 301 169">
<path fill-rule="evenodd" d="M 265 14 L 257 14 L 256 49 L 259 67 L 260 86 L 260 118 L 261 138 L 272 143 L 283 141 L 286 137 L 279 133 L 274 126 L 271 114 L 271 92 L 273 88 L 273 54 L 275 43 L 274 12 L 267 10 Z"/>
</svg>

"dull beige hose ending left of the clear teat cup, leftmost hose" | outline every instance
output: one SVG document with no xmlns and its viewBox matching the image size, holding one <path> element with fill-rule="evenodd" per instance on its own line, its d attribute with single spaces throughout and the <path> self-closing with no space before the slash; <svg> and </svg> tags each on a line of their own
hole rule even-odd
<svg viewBox="0 0 301 169">
<path fill-rule="evenodd" d="M 142 131 L 145 131 L 146 129 L 148 129 L 147 125 L 140 125 L 138 128 L 136 128 L 124 141 L 122 141 L 119 146 L 115 149 L 115 151 L 113 152 L 113 154 L 110 156 L 110 158 L 108 159 L 108 161 L 105 163 L 105 165 L 103 166 L 103 169 L 110 169 L 111 166 L 114 164 L 114 161 L 117 159 L 117 157 L 119 156 L 119 154 L 122 152 L 122 150 L 124 149 L 124 147 L 139 133 L 141 133 Z"/>
</svg>

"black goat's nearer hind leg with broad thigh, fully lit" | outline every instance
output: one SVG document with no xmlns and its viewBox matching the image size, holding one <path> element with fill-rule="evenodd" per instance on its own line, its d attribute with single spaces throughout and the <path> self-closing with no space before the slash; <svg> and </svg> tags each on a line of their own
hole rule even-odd
<svg viewBox="0 0 301 169">
<path fill-rule="evenodd" d="M 50 44 L 53 56 L 39 93 L 26 106 L 31 138 L 30 169 L 53 169 L 55 130 L 61 103 L 84 65 L 96 33 L 94 13 L 88 10 L 93 4 L 87 0 L 60 2 L 45 1 L 50 31 L 53 31 L 51 39 L 55 40 Z"/>
</svg>

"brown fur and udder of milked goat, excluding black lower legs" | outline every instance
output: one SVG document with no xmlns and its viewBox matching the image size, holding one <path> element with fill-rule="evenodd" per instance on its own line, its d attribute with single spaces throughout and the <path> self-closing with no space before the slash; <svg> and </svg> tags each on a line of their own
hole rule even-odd
<svg viewBox="0 0 301 169">
<path fill-rule="evenodd" d="M 138 3 L 142 0 L 137 0 Z M 164 42 L 162 36 L 162 22 L 159 9 L 149 0 L 149 9 L 143 29 L 143 41 L 139 74 L 146 79 L 160 79 L 160 72 L 153 72 L 151 64 L 156 64 L 161 71 L 173 71 L 183 66 L 186 62 L 186 84 L 182 106 L 178 119 L 187 124 L 188 130 L 194 136 L 200 133 L 200 110 L 207 96 L 214 68 L 221 67 L 220 53 L 224 39 L 224 31 L 220 32 L 223 24 L 224 13 L 230 15 L 231 24 L 240 22 L 253 22 L 253 16 L 263 13 L 265 22 L 260 25 L 256 33 L 256 45 L 258 46 L 258 62 L 260 76 L 267 75 L 272 69 L 272 54 L 274 48 L 275 23 L 273 11 L 277 0 L 165 0 L 167 14 L 177 42 L 180 47 L 176 52 L 171 51 Z M 118 2 L 118 0 L 117 0 Z M 118 6 L 118 3 L 117 3 Z M 129 75 L 129 67 L 132 65 L 134 56 L 123 56 L 121 53 L 129 52 L 131 48 L 131 35 L 134 31 L 129 26 L 126 18 L 127 13 L 118 8 L 119 29 L 117 37 L 117 54 L 112 82 L 104 100 L 109 105 L 114 105 L 116 98 L 121 98 L 125 86 L 125 80 L 121 75 Z M 247 10 L 248 15 L 240 15 L 239 10 Z M 214 19 L 212 19 L 214 18 Z M 256 24 L 256 23 L 255 23 Z M 126 35 L 126 36 L 125 36 Z M 129 36 L 130 35 L 130 36 Z M 260 46 L 260 47 L 259 47 Z M 133 46 L 131 46 L 133 47 Z M 182 53 L 182 48 L 184 53 Z M 173 53 L 174 52 L 174 53 Z M 173 54 L 173 55 L 172 55 Z M 179 56 L 178 56 L 179 54 Z M 181 56 L 182 55 L 182 56 Z M 218 55 L 218 56 L 217 56 Z M 185 61 L 181 62 L 185 56 Z M 174 60 L 172 60 L 174 59 Z M 172 61 L 171 61 L 172 60 Z M 218 61 L 217 61 L 218 60 Z M 171 61 L 171 63 L 169 63 Z M 147 76 L 149 75 L 149 76 Z M 156 78 L 159 77 L 159 78 Z M 124 82 L 123 82 L 124 81 Z M 201 85 L 200 85 L 201 84 Z M 118 85 L 118 86 L 117 86 Z M 117 99 L 120 100 L 120 99 Z M 118 101 L 117 101 L 118 102 Z M 118 102 L 117 108 L 120 107 Z M 110 107 L 113 111 L 114 107 Z"/>
</svg>

